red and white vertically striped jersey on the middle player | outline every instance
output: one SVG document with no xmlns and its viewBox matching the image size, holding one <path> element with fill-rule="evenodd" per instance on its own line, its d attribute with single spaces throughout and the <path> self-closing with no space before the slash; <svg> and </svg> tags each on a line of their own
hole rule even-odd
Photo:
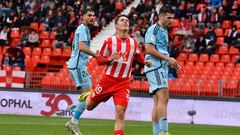
<svg viewBox="0 0 240 135">
<path fill-rule="evenodd" d="M 100 55 L 108 58 L 116 52 L 120 54 L 120 59 L 107 65 L 104 73 L 116 78 L 129 78 L 134 55 L 140 53 L 137 41 L 131 37 L 122 40 L 116 35 L 105 40 Z"/>
</svg>

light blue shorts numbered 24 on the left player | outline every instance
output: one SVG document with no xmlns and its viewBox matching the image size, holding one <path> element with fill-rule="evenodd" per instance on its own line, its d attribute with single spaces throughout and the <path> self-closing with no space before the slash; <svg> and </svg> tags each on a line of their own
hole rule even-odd
<svg viewBox="0 0 240 135">
<path fill-rule="evenodd" d="M 86 68 L 69 69 L 69 72 L 78 89 L 81 90 L 92 87 L 92 81 Z"/>
</svg>

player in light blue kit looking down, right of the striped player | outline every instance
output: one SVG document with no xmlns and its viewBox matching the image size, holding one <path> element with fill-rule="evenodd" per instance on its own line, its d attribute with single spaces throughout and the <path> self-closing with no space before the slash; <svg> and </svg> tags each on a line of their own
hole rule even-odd
<svg viewBox="0 0 240 135">
<path fill-rule="evenodd" d="M 170 6 L 164 6 L 159 13 L 159 21 L 150 26 L 145 35 L 146 56 L 145 60 L 151 60 L 151 67 L 144 67 L 148 82 L 149 93 L 153 96 L 154 106 L 152 110 L 153 134 L 169 135 L 167 122 L 168 92 L 168 66 L 179 70 L 180 64 L 168 53 L 168 31 L 174 10 Z"/>
</svg>

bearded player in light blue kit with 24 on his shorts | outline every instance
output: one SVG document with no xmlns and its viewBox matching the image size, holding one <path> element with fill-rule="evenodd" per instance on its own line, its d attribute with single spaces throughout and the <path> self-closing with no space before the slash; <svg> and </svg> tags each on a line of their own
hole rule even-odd
<svg viewBox="0 0 240 135">
<path fill-rule="evenodd" d="M 91 79 L 88 75 L 86 64 L 88 62 L 89 55 L 94 58 L 98 57 L 98 54 L 90 50 L 90 30 L 89 26 L 93 25 L 95 19 L 94 11 L 91 8 L 87 8 L 83 12 L 83 23 L 78 26 L 75 31 L 72 54 L 69 59 L 68 69 L 74 80 L 76 88 L 81 93 L 90 91 L 92 89 Z M 68 121 L 65 126 L 74 135 L 82 135 L 78 128 L 78 120 L 81 114 L 84 112 L 86 102 L 78 102 L 77 108 L 73 113 L 73 117 Z"/>
</svg>

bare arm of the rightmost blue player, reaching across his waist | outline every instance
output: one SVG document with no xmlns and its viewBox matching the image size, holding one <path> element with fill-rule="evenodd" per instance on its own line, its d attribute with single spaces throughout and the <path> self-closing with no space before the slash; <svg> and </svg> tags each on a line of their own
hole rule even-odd
<svg viewBox="0 0 240 135">
<path fill-rule="evenodd" d="M 180 63 L 176 59 L 161 54 L 156 50 L 153 44 L 151 43 L 146 44 L 145 49 L 147 54 L 151 54 L 159 59 L 167 61 L 169 65 L 175 68 L 176 70 L 179 70 L 181 68 Z"/>
</svg>

